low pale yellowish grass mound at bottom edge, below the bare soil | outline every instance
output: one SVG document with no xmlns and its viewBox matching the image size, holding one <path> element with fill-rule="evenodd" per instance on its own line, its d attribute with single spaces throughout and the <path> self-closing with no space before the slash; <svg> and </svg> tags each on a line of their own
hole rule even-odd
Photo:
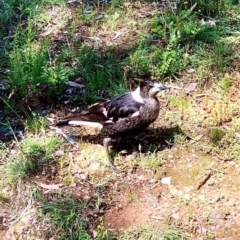
<svg viewBox="0 0 240 240">
<path fill-rule="evenodd" d="M 119 240 L 187 240 L 190 239 L 185 233 L 174 226 L 142 226 L 126 230 L 121 233 Z"/>
</svg>

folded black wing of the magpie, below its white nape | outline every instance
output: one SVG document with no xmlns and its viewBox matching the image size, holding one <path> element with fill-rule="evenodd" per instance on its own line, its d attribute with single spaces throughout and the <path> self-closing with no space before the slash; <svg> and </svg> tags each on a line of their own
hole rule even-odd
<svg viewBox="0 0 240 240">
<path fill-rule="evenodd" d="M 108 118 L 113 118 L 116 122 L 118 118 L 128 117 L 139 111 L 143 105 L 137 102 L 131 92 L 125 93 L 121 96 L 115 97 L 104 104 Z"/>
</svg>

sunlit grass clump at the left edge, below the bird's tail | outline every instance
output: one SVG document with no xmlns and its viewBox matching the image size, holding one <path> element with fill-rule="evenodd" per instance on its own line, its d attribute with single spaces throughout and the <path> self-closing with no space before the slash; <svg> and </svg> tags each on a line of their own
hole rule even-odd
<svg viewBox="0 0 240 240">
<path fill-rule="evenodd" d="M 17 155 L 8 152 L 5 164 L 1 168 L 6 184 L 14 184 L 18 179 L 33 174 L 52 172 L 51 165 L 55 162 L 52 154 L 58 145 L 58 139 L 53 137 L 44 139 L 28 137 L 22 143 L 18 143 L 18 149 L 16 146 L 14 151 Z"/>
</svg>

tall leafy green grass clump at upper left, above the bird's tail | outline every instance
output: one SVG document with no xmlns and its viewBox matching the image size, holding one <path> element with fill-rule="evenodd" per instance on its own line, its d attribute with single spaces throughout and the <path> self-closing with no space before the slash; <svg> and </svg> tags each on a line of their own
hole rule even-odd
<svg viewBox="0 0 240 240">
<path fill-rule="evenodd" d="M 9 54 L 10 69 L 8 78 L 12 87 L 20 96 L 37 93 L 42 86 L 46 85 L 46 95 L 54 92 L 61 94 L 69 76 L 73 71 L 55 60 L 51 65 L 48 56 L 48 40 L 33 42 L 35 33 L 29 22 L 27 31 L 17 30 L 14 39 L 14 47 Z M 62 58 L 62 56 L 58 56 Z"/>
</svg>

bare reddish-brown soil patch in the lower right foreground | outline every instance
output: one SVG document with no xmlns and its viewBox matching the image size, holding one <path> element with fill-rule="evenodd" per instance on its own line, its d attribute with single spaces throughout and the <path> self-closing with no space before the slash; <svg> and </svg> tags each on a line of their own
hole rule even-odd
<svg viewBox="0 0 240 240">
<path fill-rule="evenodd" d="M 194 149 L 171 149 L 155 174 L 138 171 L 108 190 L 106 228 L 171 223 L 193 239 L 239 239 L 240 166 Z M 164 179 L 170 178 L 170 184 Z M 116 185 L 118 186 L 116 192 Z"/>
</svg>

